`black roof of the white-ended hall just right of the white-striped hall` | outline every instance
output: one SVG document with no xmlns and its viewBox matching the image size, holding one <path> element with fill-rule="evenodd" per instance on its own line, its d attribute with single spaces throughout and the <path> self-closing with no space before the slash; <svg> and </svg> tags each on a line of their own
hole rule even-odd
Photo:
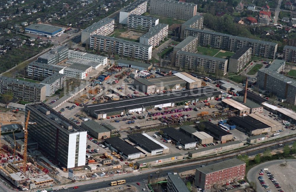
<svg viewBox="0 0 296 192">
<path fill-rule="evenodd" d="M 178 141 L 179 143 L 186 145 L 188 143 L 197 143 L 197 141 L 188 135 L 178 131 L 177 129 L 173 127 L 166 127 L 162 130 L 166 135 L 168 135 L 171 139 Z"/>
</svg>

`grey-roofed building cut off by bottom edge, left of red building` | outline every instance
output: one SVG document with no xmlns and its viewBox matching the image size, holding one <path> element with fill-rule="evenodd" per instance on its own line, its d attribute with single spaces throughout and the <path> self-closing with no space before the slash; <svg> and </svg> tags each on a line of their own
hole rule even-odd
<svg viewBox="0 0 296 192">
<path fill-rule="evenodd" d="M 168 192 L 189 192 L 189 189 L 186 187 L 184 181 L 178 173 L 168 174 L 168 183 L 167 183 Z"/>
</svg>

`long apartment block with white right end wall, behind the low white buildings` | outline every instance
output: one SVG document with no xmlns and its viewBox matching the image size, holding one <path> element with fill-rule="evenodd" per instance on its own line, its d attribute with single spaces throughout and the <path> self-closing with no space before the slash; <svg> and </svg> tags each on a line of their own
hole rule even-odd
<svg viewBox="0 0 296 192">
<path fill-rule="evenodd" d="M 120 57 L 125 56 L 141 60 L 150 60 L 152 57 L 152 45 L 102 35 L 91 36 L 90 48 L 118 54 Z"/>
</svg>

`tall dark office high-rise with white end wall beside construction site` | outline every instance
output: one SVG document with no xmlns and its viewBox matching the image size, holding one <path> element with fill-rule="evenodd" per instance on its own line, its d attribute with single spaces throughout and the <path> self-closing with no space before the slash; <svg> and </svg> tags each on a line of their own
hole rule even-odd
<svg viewBox="0 0 296 192">
<path fill-rule="evenodd" d="M 30 111 L 28 136 L 34 138 L 47 156 L 61 167 L 85 165 L 86 131 L 42 102 L 26 105 L 25 119 Z"/>
</svg>

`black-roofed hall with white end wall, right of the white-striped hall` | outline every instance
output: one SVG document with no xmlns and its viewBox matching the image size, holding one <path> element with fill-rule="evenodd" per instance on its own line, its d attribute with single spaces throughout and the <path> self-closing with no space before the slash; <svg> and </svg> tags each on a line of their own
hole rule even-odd
<svg viewBox="0 0 296 192">
<path fill-rule="evenodd" d="M 160 129 L 165 138 L 172 139 L 176 142 L 176 145 L 180 145 L 184 149 L 196 147 L 197 141 L 186 134 L 178 131 L 173 127 L 167 127 Z"/>
</svg>

